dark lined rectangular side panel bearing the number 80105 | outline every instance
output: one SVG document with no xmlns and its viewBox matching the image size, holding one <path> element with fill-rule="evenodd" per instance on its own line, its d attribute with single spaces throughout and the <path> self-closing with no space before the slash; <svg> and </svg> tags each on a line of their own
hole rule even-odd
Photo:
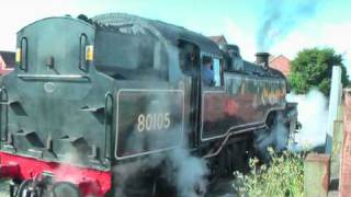
<svg viewBox="0 0 351 197">
<path fill-rule="evenodd" d="M 181 90 L 120 90 L 116 158 L 133 158 L 180 146 L 183 97 Z"/>
</svg>

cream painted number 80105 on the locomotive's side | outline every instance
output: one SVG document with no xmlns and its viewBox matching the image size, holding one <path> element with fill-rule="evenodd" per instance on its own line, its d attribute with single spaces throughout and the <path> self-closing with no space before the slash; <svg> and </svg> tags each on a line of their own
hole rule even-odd
<svg viewBox="0 0 351 197">
<path fill-rule="evenodd" d="M 138 116 L 137 129 L 139 132 L 168 129 L 171 125 L 169 115 L 169 113 L 140 114 Z"/>
</svg>

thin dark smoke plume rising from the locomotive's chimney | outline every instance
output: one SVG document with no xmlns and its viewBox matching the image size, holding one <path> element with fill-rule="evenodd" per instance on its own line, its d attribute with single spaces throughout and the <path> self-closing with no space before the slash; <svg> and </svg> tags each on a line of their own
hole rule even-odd
<svg viewBox="0 0 351 197">
<path fill-rule="evenodd" d="M 268 51 L 303 20 L 316 14 L 320 0 L 265 0 L 263 22 L 257 32 L 257 48 Z"/>
</svg>

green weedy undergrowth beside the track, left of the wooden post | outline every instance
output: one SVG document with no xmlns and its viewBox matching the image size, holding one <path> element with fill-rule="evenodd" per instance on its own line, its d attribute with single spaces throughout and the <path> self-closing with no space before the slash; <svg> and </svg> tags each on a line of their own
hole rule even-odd
<svg viewBox="0 0 351 197">
<path fill-rule="evenodd" d="M 284 151 L 281 155 L 269 148 L 270 166 L 258 165 L 250 160 L 250 172 L 244 175 L 235 172 L 235 189 L 239 196 L 299 197 L 304 190 L 304 159 L 302 155 Z"/>
</svg>

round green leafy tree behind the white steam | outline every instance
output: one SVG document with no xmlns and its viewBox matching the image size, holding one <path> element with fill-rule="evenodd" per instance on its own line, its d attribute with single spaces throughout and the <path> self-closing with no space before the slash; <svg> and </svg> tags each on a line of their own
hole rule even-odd
<svg viewBox="0 0 351 197">
<path fill-rule="evenodd" d="M 312 88 L 317 88 L 325 95 L 329 95 L 332 66 L 341 67 L 341 83 L 348 85 L 347 69 L 342 65 L 341 55 L 332 48 L 309 48 L 297 54 L 292 61 L 288 81 L 298 94 L 307 93 Z"/>
</svg>

